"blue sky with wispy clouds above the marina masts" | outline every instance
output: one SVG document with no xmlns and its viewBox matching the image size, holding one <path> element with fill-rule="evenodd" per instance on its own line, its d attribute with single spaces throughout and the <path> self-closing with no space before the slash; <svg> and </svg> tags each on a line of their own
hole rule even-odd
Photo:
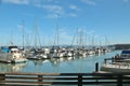
<svg viewBox="0 0 130 86">
<path fill-rule="evenodd" d="M 86 44 L 130 43 L 130 0 L 0 0 L 0 45 L 22 45 L 23 26 L 25 44 L 35 45 L 36 24 L 42 45 L 54 44 L 57 26 L 60 44 L 77 29 Z"/>
</svg>

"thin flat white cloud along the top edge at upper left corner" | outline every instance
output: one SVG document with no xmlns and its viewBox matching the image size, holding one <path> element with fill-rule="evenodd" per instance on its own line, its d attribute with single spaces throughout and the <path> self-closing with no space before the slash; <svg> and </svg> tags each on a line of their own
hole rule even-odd
<svg viewBox="0 0 130 86">
<path fill-rule="evenodd" d="M 2 0 L 4 3 L 28 4 L 30 0 Z"/>
</svg>

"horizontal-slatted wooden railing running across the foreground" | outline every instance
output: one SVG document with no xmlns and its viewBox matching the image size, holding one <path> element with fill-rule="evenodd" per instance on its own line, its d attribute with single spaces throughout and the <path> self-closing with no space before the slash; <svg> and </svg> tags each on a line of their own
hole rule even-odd
<svg viewBox="0 0 130 86">
<path fill-rule="evenodd" d="M 130 73 L 0 73 L 0 86 L 130 84 Z"/>
</svg>

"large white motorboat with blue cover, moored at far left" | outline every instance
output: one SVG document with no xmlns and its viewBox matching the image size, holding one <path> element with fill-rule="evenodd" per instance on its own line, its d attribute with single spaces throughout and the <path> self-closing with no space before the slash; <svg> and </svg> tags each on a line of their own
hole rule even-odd
<svg viewBox="0 0 130 86">
<path fill-rule="evenodd" d="M 17 46 L 2 46 L 0 52 L 0 61 L 8 62 L 8 63 L 18 63 L 18 62 L 26 62 L 27 59 L 18 49 Z"/>
</svg>

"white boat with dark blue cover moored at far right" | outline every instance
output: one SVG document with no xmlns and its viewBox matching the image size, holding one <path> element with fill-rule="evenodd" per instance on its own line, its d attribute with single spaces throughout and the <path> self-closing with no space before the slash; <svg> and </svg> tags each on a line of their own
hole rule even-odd
<svg viewBox="0 0 130 86">
<path fill-rule="evenodd" d="M 101 71 L 130 72 L 130 51 L 122 51 L 120 55 L 104 59 Z"/>
</svg>

